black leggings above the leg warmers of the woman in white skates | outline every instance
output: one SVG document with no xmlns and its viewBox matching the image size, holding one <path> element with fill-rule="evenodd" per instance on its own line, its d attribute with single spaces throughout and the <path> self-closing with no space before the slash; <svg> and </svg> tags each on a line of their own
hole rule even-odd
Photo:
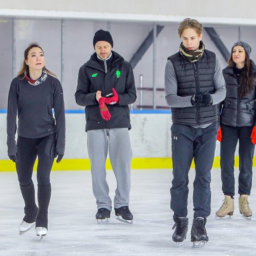
<svg viewBox="0 0 256 256">
<path fill-rule="evenodd" d="M 38 156 L 37 184 L 50 184 L 50 173 L 54 161 L 55 136 L 51 134 L 38 139 L 18 136 L 16 170 L 19 184 L 28 186 L 32 181 L 33 167 Z"/>
</svg>

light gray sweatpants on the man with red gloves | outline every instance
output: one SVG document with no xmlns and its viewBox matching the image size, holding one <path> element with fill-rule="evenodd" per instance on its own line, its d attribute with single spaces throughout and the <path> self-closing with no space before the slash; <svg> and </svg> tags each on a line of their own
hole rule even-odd
<svg viewBox="0 0 256 256">
<path fill-rule="evenodd" d="M 114 207 L 129 205 L 131 189 L 132 148 L 127 128 L 87 131 L 87 146 L 91 162 L 93 194 L 97 208 L 112 209 L 105 162 L 109 156 L 117 181 Z"/>
</svg>

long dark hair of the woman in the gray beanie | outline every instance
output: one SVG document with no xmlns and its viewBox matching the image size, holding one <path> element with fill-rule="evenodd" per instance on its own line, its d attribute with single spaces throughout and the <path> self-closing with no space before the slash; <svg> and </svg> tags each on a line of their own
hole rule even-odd
<svg viewBox="0 0 256 256">
<path fill-rule="evenodd" d="M 233 52 L 233 49 L 231 50 L 231 55 L 229 56 L 228 61 L 227 61 L 228 66 L 231 68 L 236 67 L 236 63 L 234 63 L 234 61 L 232 59 L 232 52 Z M 254 88 L 254 79 L 253 79 L 253 73 L 252 73 L 252 69 L 251 69 L 251 62 L 250 62 L 250 58 L 248 57 L 246 51 L 245 51 L 244 68 L 245 68 L 244 72 L 241 76 L 241 82 L 239 84 L 241 98 L 245 97 Z"/>
</svg>

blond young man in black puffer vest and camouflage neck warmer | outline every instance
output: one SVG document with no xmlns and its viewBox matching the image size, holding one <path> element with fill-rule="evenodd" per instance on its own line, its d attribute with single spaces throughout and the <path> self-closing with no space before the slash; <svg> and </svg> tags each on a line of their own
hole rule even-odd
<svg viewBox="0 0 256 256">
<path fill-rule="evenodd" d="M 208 241 L 205 230 L 210 215 L 210 170 L 217 136 L 217 104 L 226 95 L 220 63 L 214 52 L 204 48 L 202 25 L 184 19 L 178 34 L 179 52 L 168 57 L 165 67 L 165 99 L 172 107 L 173 181 L 170 207 L 176 227 L 173 240 L 183 244 L 188 230 L 188 171 L 194 158 L 194 219 L 191 228 L 193 247 Z"/>
</svg>

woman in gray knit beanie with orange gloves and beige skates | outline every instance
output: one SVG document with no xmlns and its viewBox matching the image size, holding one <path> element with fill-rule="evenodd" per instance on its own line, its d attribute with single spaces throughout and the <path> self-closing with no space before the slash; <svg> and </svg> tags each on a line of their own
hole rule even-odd
<svg viewBox="0 0 256 256">
<path fill-rule="evenodd" d="M 248 196 L 252 183 L 252 160 L 256 144 L 256 66 L 250 59 L 251 47 L 244 41 L 233 45 L 228 66 L 223 70 L 226 98 L 219 105 L 221 180 L 225 196 L 216 216 L 233 215 L 234 152 L 239 140 L 238 194 L 240 214 L 250 219 Z"/>
</svg>

